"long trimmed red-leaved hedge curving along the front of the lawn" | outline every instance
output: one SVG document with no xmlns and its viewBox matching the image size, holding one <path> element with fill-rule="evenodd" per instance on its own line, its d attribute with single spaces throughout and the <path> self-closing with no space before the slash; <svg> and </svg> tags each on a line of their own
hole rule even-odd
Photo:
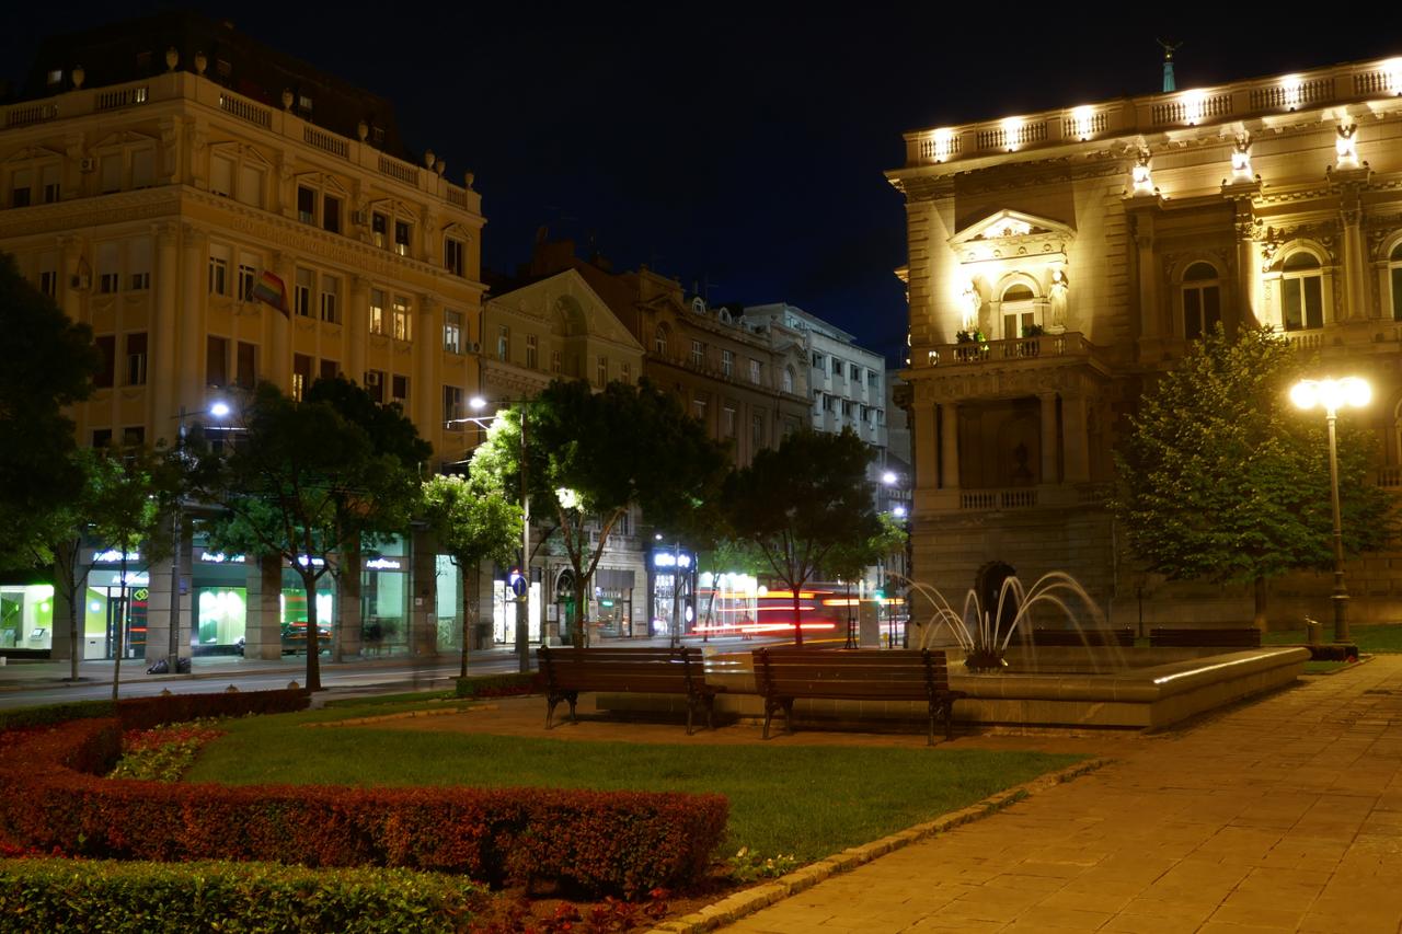
<svg viewBox="0 0 1402 934">
<path fill-rule="evenodd" d="M 0 840 L 66 855 L 390 865 L 631 896 L 700 878 L 728 813 L 721 795 L 100 778 L 118 742 L 116 721 L 84 719 L 10 743 Z"/>
</svg>

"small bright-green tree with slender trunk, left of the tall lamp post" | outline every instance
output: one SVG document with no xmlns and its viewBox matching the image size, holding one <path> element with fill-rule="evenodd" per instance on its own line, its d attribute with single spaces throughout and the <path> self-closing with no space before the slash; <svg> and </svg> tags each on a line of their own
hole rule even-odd
<svg viewBox="0 0 1402 934">
<path fill-rule="evenodd" d="M 506 564 L 512 560 L 522 537 L 522 508 L 481 474 L 471 478 L 440 475 L 423 481 L 423 516 L 439 547 L 463 575 L 463 665 L 458 675 L 467 677 L 468 637 L 477 621 L 467 575 L 477 574 L 482 561 Z"/>
</svg>

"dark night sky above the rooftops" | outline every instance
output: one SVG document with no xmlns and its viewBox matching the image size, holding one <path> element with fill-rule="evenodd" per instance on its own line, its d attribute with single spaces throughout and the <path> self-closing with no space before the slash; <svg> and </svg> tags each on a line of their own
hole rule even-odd
<svg viewBox="0 0 1402 934">
<path fill-rule="evenodd" d="M 22 83 L 41 35 L 168 6 L 8 10 L 0 74 Z M 1158 91 L 1157 36 L 1185 43 L 1179 88 L 1402 55 L 1387 4 L 1042 4 L 1014 21 L 1004 4 L 381 3 L 345 22 L 314 4 L 193 6 L 387 95 L 412 150 L 454 181 L 474 171 L 489 269 L 515 271 L 547 226 L 714 303 L 791 302 L 892 362 L 904 212 L 882 171 L 903 132 Z M 967 20 L 981 10 L 998 18 Z"/>
</svg>

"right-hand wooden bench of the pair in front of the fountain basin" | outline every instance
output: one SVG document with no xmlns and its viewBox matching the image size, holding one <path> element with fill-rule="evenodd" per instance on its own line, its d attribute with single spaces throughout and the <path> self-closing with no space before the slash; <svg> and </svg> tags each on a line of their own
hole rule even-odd
<svg viewBox="0 0 1402 934">
<path fill-rule="evenodd" d="M 774 712 L 784 711 L 784 725 L 794 732 L 794 701 L 925 701 L 930 708 L 927 742 L 935 742 L 935 719 L 944 719 L 945 739 L 953 739 L 955 701 L 963 691 L 949 690 L 949 665 L 942 651 L 890 649 L 841 651 L 761 648 L 754 651 L 754 683 L 764 696 L 764 739 L 770 738 Z"/>
</svg>

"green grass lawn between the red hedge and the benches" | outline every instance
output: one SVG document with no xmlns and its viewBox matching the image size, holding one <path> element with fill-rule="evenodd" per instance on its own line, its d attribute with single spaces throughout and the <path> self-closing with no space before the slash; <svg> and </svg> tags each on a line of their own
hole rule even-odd
<svg viewBox="0 0 1402 934">
<path fill-rule="evenodd" d="M 383 704 L 365 704 L 227 721 L 229 733 L 205 746 L 185 780 L 715 791 L 730 801 L 728 853 L 747 846 L 805 862 L 1082 759 L 938 747 L 582 743 L 300 728 L 381 712 Z"/>
</svg>

